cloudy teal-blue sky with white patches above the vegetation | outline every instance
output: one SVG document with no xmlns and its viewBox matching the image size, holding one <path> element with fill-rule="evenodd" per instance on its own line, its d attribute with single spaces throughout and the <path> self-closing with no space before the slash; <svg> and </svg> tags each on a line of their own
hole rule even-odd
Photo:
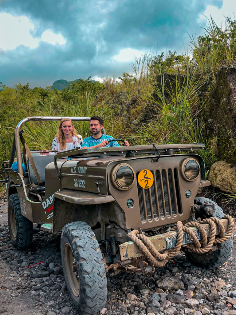
<svg viewBox="0 0 236 315">
<path fill-rule="evenodd" d="M 0 81 L 119 77 L 144 52 L 187 52 L 204 15 L 234 14 L 235 0 L 0 0 Z"/>
</svg>

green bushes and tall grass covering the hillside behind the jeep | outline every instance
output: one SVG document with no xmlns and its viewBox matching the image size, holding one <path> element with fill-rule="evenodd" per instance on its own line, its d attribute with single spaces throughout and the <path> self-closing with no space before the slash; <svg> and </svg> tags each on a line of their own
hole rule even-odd
<svg viewBox="0 0 236 315">
<path fill-rule="evenodd" d="M 123 72 L 120 82 L 104 77 L 99 83 L 88 77 L 68 82 L 62 91 L 31 89 L 29 83 L 18 83 L 12 89 L 0 82 L 1 162 L 9 158 L 14 128 L 24 117 L 98 115 L 104 119 L 107 134 L 131 144 L 204 142 L 206 151 L 200 154 L 209 169 L 217 159 L 218 139 L 208 135 L 201 112 L 211 88 L 209 78 L 214 78 L 223 64 L 235 62 L 235 41 L 235 21 L 227 18 L 222 28 L 211 19 L 205 35 L 191 37 L 191 54 L 144 53 L 134 58 L 133 73 Z M 117 98 L 121 91 L 122 97 Z M 145 112 L 149 112 L 149 119 L 143 119 Z M 24 125 L 29 147 L 50 149 L 57 126 L 58 122 Z M 89 123 L 75 123 L 75 127 L 83 138 L 90 135 Z M 230 133 L 228 141 L 233 148 Z"/>
</svg>

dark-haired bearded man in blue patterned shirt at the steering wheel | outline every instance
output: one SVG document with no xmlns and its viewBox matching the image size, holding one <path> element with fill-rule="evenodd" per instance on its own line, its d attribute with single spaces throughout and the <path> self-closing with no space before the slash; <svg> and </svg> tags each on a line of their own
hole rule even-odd
<svg viewBox="0 0 236 315">
<path fill-rule="evenodd" d="M 91 137 L 87 137 L 83 140 L 83 148 L 104 148 L 105 146 L 120 146 L 117 141 L 108 142 L 114 138 L 108 135 L 102 134 L 103 120 L 101 117 L 93 116 L 90 118 L 90 130 L 92 132 Z M 125 140 L 125 146 L 129 146 L 129 142 Z"/>
</svg>

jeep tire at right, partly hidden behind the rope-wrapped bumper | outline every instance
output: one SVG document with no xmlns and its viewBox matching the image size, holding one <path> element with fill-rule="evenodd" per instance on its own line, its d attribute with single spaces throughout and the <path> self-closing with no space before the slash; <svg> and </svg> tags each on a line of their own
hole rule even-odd
<svg viewBox="0 0 236 315">
<path fill-rule="evenodd" d="M 214 201 L 208 198 L 200 198 L 198 199 L 203 199 L 204 202 L 211 202 L 215 204 L 215 213 L 213 214 L 213 217 L 216 217 L 218 219 L 222 219 L 224 216 L 224 212 L 221 207 L 217 205 Z M 196 200 L 195 200 L 196 201 Z M 196 202 L 195 202 L 196 203 Z M 192 252 L 185 252 L 185 256 L 189 261 L 191 261 L 194 265 L 200 266 L 205 269 L 214 269 L 219 266 L 222 266 L 226 261 L 228 261 L 229 256 L 232 253 L 232 248 L 233 248 L 233 234 L 231 237 L 220 244 L 217 244 L 218 250 L 214 252 L 207 252 L 203 255 L 198 255 Z"/>
</svg>

